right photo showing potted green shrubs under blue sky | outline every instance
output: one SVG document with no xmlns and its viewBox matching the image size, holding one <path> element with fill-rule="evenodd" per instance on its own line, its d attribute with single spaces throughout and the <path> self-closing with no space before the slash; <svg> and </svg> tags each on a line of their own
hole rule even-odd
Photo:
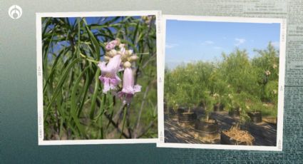
<svg viewBox="0 0 303 164">
<path fill-rule="evenodd" d="M 281 147 L 282 24 L 249 20 L 166 20 L 164 144 Z"/>
</svg>

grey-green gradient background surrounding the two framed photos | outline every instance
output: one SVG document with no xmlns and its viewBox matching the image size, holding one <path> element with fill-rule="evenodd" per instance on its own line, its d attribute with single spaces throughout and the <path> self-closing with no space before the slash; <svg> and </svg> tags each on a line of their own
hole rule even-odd
<svg viewBox="0 0 303 164">
<path fill-rule="evenodd" d="M 36 12 L 162 10 L 163 14 L 261 16 L 241 14 L 243 7 L 232 9 L 228 7 L 230 2 L 1 0 L 0 163 L 303 163 L 302 86 L 285 88 L 282 152 L 156 148 L 155 144 L 38 146 Z M 21 19 L 9 17 L 8 9 L 13 4 L 23 9 Z M 212 10 L 214 7 L 218 10 Z M 282 17 L 289 19 L 289 14 Z"/>
</svg>

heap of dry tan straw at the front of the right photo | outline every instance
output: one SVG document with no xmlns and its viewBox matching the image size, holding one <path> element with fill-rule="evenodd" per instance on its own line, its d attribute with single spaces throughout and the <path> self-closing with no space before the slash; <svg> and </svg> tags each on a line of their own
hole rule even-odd
<svg viewBox="0 0 303 164">
<path fill-rule="evenodd" d="M 221 132 L 222 145 L 253 145 L 255 138 L 246 130 L 240 130 L 239 125 Z"/>
</svg>

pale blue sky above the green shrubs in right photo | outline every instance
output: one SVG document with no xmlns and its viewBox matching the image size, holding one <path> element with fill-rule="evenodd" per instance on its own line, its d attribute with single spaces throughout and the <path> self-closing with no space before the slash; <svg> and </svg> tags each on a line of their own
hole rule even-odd
<svg viewBox="0 0 303 164">
<path fill-rule="evenodd" d="M 222 52 L 265 49 L 272 42 L 279 48 L 279 24 L 211 21 L 166 21 L 165 67 L 192 61 L 217 61 Z"/>
</svg>

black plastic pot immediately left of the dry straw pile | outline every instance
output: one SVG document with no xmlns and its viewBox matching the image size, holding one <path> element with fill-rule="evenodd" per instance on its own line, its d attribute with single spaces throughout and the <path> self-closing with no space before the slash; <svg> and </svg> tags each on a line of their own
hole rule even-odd
<svg viewBox="0 0 303 164">
<path fill-rule="evenodd" d="M 217 123 L 207 123 L 201 121 L 195 122 L 195 131 L 199 134 L 200 137 L 217 135 L 218 130 L 219 125 L 217 125 Z"/>
</svg>

